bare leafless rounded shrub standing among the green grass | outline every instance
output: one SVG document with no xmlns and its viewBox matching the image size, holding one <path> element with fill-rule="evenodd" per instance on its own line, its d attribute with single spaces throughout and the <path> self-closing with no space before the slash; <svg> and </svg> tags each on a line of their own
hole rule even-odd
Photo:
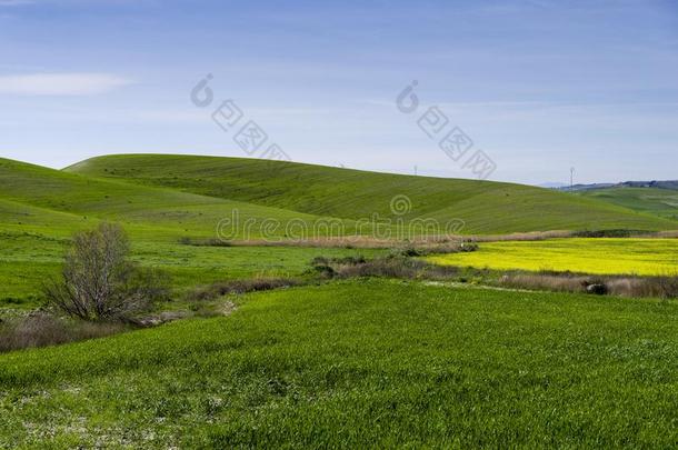
<svg viewBox="0 0 678 450">
<path fill-rule="evenodd" d="M 101 223 L 73 237 L 62 279 L 44 286 L 50 306 L 83 320 L 122 319 L 167 297 L 167 279 L 128 260 L 129 240 L 120 226 Z"/>
</svg>

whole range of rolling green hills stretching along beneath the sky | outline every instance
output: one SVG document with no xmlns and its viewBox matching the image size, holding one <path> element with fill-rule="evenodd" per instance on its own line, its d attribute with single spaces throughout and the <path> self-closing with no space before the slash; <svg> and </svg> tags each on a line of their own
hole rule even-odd
<svg viewBox="0 0 678 450">
<path fill-rule="evenodd" d="M 33 227 L 58 236 L 97 220 L 114 220 L 148 239 L 213 238 L 217 224 L 232 219 L 235 210 L 236 239 L 260 237 L 262 223 L 271 220 L 278 223 L 273 234 L 285 237 L 289 223 L 316 223 L 327 217 L 341 219 L 346 233 L 356 232 L 358 220 L 396 223 L 415 218 L 441 224 L 461 219 L 463 233 L 678 229 L 668 196 L 652 197 L 656 208 L 647 206 L 646 196 L 640 208 L 628 196 L 617 196 L 619 204 L 611 204 L 521 184 L 251 159 L 111 156 L 64 171 L 0 159 L 0 180 L 3 229 Z M 397 196 L 407 198 L 402 216 L 391 211 Z M 652 216 L 658 210 L 664 217 Z"/>
</svg>

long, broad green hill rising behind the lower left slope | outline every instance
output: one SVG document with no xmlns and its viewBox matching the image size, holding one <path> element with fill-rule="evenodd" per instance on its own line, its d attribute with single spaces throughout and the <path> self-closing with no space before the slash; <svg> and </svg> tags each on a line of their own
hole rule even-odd
<svg viewBox="0 0 678 450">
<path fill-rule="evenodd" d="M 405 219 L 462 219 L 466 233 L 585 229 L 678 229 L 678 222 L 521 184 L 375 173 L 256 159 L 127 154 L 93 158 L 68 172 L 179 189 L 308 214 L 393 218 L 393 196 L 407 196 Z"/>
</svg>

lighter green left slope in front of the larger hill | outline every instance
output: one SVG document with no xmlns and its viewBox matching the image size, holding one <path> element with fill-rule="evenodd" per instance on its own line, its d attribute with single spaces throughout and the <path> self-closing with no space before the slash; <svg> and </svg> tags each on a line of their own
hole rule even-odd
<svg viewBox="0 0 678 450">
<path fill-rule="evenodd" d="M 206 197 L 179 190 L 140 187 L 0 159 L 0 224 L 23 231 L 54 227 L 51 234 L 70 236 L 92 220 L 119 221 L 144 239 L 216 238 L 220 220 L 239 218 L 281 223 L 316 217 L 242 201 Z M 259 228 L 251 227 L 252 237 Z M 237 230 L 242 238 L 245 229 Z M 283 228 L 277 231 L 282 236 Z"/>
</svg>

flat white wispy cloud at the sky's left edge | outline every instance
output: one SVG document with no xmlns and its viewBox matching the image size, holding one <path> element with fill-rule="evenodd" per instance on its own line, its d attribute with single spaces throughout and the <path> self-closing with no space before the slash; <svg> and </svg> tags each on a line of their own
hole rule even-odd
<svg viewBox="0 0 678 450">
<path fill-rule="evenodd" d="M 0 77 L 0 94 L 93 96 L 131 83 L 110 73 L 30 73 Z"/>
</svg>

